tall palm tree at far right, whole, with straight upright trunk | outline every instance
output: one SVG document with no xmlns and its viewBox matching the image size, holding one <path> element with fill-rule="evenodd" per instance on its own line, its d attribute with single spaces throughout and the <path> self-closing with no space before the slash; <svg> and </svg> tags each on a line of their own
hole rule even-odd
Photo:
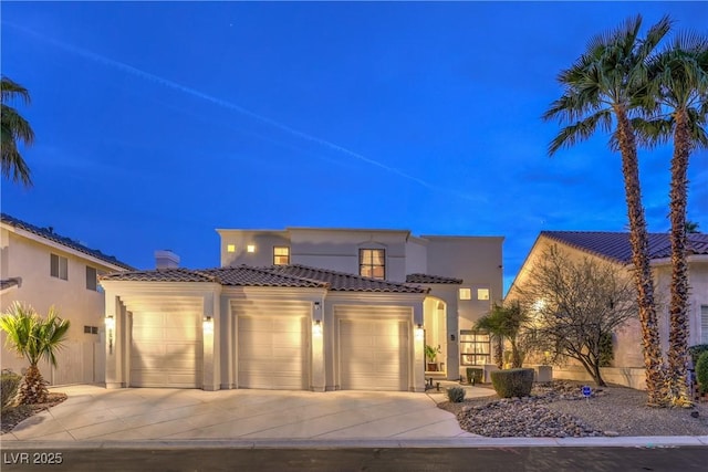
<svg viewBox="0 0 708 472">
<path fill-rule="evenodd" d="M 708 39 L 684 34 L 654 59 L 644 105 L 652 116 L 637 119 L 649 146 L 673 137 L 670 186 L 671 285 L 668 387 L 675 406 L 690 406 L 688 391 L 688 264 L 686 261 L 687 172 L 690 153 L 708 147 Z M 697 227 L 697 225 L 696 225 Z"/>
</svg>

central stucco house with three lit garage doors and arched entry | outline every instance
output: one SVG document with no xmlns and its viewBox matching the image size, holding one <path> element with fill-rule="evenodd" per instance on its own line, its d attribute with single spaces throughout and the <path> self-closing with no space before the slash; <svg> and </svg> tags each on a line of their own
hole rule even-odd
<svg viewBox="0 0 708 472">
<path fill-rule="evenodd" d="M 221 268 L 102 277 L 107 387 L 421 391 L 425 344 L 428 376 L 490 363 L 471 328 L 502 296 L 502 238 L 218 232 Z"/>
</svg>

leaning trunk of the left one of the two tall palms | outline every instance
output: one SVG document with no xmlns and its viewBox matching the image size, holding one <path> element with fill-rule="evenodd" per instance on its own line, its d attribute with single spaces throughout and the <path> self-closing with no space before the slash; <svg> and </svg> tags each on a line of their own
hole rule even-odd
<svg viewBox="0 0 708 472">
<path fill-rule="evenodd" d="M 666 389 L 662 345 L 659 344 L 656 307 L 654 305 L 654 281 L 652 269 L 649 268 L 648 234 L 644 218 L 644 207 L 642 206 L 637 146 L 632 124 L 622 105 L 615 106 L 615 115 L 617 117 L 617 140 L 622 154 L 622 172 L 624 175 L 627 216 L 629 219 L 634 282 L 637 289 L 639 323 L 642 325 L 642 346 L 648 405 L 663 407 L 667 403 L 668 392 Z"/>
</svg>

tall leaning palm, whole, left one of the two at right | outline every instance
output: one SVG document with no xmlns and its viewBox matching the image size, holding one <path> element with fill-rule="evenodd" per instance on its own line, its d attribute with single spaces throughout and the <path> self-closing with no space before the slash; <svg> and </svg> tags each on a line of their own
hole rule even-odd
<svg viewBox="0 0 708 472">
<path fill-rule="evenodd" d="M 549 146 L 552 156 L 562 147 L 591 137 L 597 128 L 612 134 L 613 147 L 622 156 L 634 282 L 642 324 L 644 366 L 648 403 L 666 405 L 665 368 L 654 303 L 649 268 L 648 235 L 637 160 L 637 143 L 631 118 L 641 111 L 637 103 L 646 88 L 647 61 L 670 30 L 668 17 L 639 38 L 642 17 L 628 19 L 615 31 L 590 41 L 573 65 L 558 75 L 563 95 L 551 104 L 543 118 L 568 124 Z"/>
</svg>

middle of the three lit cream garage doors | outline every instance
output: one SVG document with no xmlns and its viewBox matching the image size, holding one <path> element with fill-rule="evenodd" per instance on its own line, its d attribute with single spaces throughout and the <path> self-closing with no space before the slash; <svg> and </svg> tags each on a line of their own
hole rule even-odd
<svg viewBox="0 0 708 472">
<path fill-rule="evenodd" d="M 239 388 L 310 388 L 303 316 L 239 316 Z"/>
</svg>

